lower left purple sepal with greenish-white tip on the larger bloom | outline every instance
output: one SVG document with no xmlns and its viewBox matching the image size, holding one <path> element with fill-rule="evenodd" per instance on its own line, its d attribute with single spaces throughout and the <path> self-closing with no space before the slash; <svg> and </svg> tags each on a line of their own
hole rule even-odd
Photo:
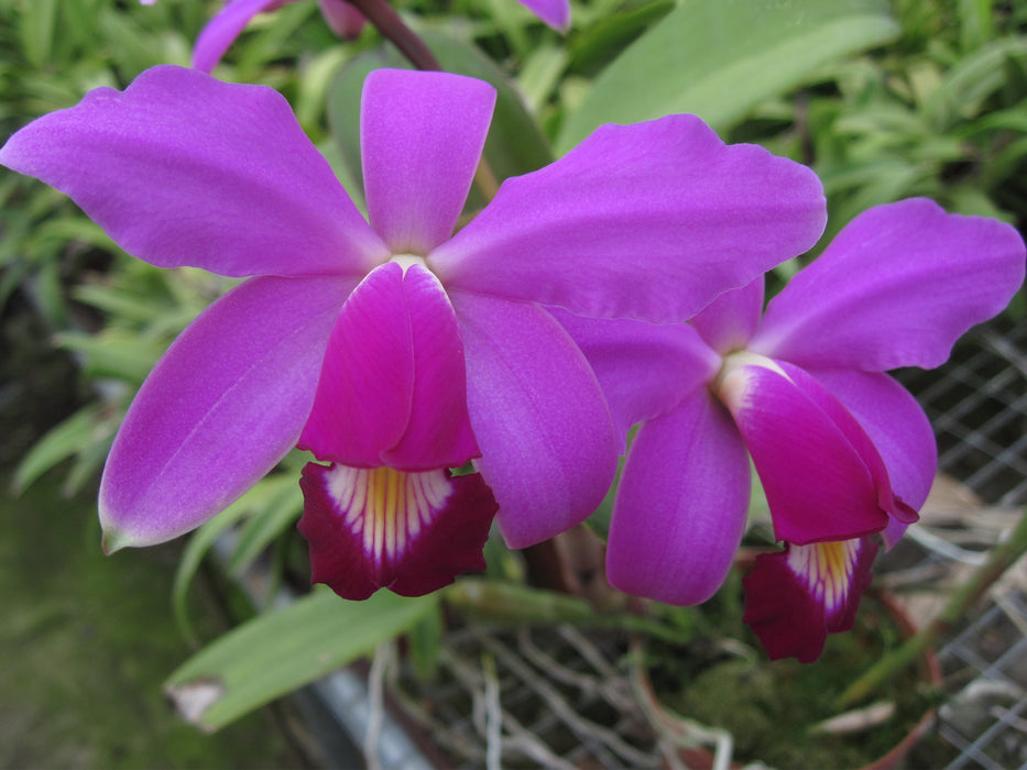
<svg viewBox="0 0 1027 770">
<path fill-rule="evenodd" d="M 296 443 L 347 278 L 253 278 L 205 310 L 146 378 L 100 482 L 108 552 L 199 526 Z"/>
</svg>

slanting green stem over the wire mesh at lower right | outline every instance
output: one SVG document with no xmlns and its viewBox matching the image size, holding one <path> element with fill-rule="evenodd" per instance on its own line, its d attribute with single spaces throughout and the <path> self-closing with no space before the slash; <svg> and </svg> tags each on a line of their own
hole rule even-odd
<svg viewBox="0 0 1027 770">
<path fill-rule="evenodd" d="M 1005 542 L 992 549 L 987 561 L 979 566 L 970 580 L 952 594 L 938 617 L 849 685 L 849 689 L 838 700 L 838 706 L 846 708 L 863 700 L 885 680 L 893 678 L 918 660 L 928 647 L 931 647 L 939 637 L 959 623 L 966 608 L 976 602 L 1024 553 L 1027 553 L 1027 509 L 1024 510 L 1019 524 Z"/>
</svg>

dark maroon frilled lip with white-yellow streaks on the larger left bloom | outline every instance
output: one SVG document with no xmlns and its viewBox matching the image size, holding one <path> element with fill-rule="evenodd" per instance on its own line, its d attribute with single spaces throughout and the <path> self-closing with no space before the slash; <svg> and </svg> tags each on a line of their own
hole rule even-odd
<svg viewBox="0 0 1027 770">
<path fill-rule="evenodd" d="M 498 506 L 478 474 L 308 463 L 299 485 L 313 582 L 342 598 L 379 588 L 420 596 L 485 568 L 481 549 Z"/>
</svg>

